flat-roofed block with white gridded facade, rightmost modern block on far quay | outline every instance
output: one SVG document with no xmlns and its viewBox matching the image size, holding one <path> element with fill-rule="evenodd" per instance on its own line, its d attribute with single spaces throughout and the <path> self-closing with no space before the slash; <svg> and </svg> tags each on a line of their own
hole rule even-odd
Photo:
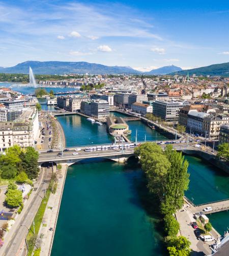
<svg viewBox="0 0 229 256">
<path fill-rule="evenodd" d="M 161 117 L 165 121 L 177 121 L 179 119 L 179 111 L 186 105 L 190 105 L 187 101 L 159 101 L 153 102 L 153 114 Z"/>
</svg>

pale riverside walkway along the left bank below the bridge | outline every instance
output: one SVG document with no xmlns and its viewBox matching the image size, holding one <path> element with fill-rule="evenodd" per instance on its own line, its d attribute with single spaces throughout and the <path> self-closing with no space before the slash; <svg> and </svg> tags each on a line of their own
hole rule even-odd
<svg viewBox="0 0 229 256">
<path fill-rule="evenodd" d="M 49 196 L 42 224 L 38 233 L 38 238 L 40 238 L 41 240 L 40 255 L 42 256 L 48 256 L 51 253 L 56 222 L 58 220 L 58 214 L 61 206 L 62 194 L 65 185 L 67 168 L 67 164 L 62 164 L 62 169 L 61 171 L 58 172 L 58 186 L 56 188 L 55 194 L 51 193 Z M 51 228 L 52 230 L 49 230 Z"/>
</svg>

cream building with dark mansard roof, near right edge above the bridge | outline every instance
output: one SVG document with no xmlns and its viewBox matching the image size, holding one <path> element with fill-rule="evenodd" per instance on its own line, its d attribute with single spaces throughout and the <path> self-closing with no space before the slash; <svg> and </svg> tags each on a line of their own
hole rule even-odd
<svg viewBox="0 0 229 256">
<path fill-rule="evenodd" d="M 220 126 L 229 124 L 229 115 L 210 112 L 210 115 L 204 118 L 203 130 L 208 137 L 218 137 Z"/>
</svg>

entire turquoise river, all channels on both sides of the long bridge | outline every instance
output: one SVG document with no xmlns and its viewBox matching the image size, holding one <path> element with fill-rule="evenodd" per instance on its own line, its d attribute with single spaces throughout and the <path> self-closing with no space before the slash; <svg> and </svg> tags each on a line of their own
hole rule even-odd
<svg viewBox="0 0 229 256">
<path fill-rule="evenodd" d="M 58 119 L 68 147 L 110 142 L 105 125 L 92 125 L 77 115 Z M 128 124 L 155 138 L 156 131 L 135 122 Z M 200 204 L 229 197 L 228 175 L 195 156 L 185 158 L 189 161 L 186 196 L 190 200 Z M 91 159 L 70 166 L 51 255 L 164 255 L 161 220 L 157 213 L 149 213 L 146 193 L 142 171 L 134 159 L 128 164 Z M 223 221 L 217 214 L 210 220 L 222 234 L 229 214 L 219 214 Z"/>
</svg>

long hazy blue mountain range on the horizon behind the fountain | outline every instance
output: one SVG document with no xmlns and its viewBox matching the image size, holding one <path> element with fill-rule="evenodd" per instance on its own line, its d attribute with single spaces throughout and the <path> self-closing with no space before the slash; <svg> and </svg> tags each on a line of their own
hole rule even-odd
<svg viewBox="0 0 229 256">
<path fill-rule="evenodd" d="M 176 66 L 166 66 L 159 69 L 154 69 L 149 72 L 140 72 L 131 67 L 120 66 L 105 66 L 96 63 L 88 62 L 38 62 L 26 61 L 17 64 L 14 67 L 0 67 L 0 73 L 19 73 L 27 74 L 29 68 L 33 69 L 34 74 L 149 74 L 163 75 L 171 72 L 182 70 Z"/>
</svg>

